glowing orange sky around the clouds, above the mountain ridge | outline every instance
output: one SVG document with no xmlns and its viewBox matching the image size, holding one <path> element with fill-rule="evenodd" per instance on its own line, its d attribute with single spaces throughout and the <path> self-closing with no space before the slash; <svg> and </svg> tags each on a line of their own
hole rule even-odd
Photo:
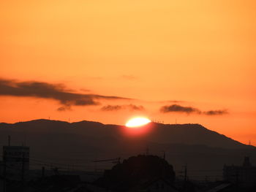
<svg viewBox="0 0 256 192">
<path fill-rule="evenodd" d="M 1 79 L 134 100 L 99 99 L 60 112 L 59 100 L 0 90 L 0 121 L 50 116 L 124 124 L 146 115 L 200 123 L 256 145 L 255 9 L 255 1 L 244 0 L 1 1 Z M 182 102 L 167 102 L 173 100 Z M 159 111 L 173 104 L 228 114 Z M 106 105 L 122 107 L 101 110 Z"/>
</svg>

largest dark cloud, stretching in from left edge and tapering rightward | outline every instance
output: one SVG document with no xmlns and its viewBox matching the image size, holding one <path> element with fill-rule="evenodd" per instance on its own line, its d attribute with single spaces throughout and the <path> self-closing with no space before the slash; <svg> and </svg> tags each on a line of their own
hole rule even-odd
<svg viewBox="0 0 256 192">
<path fill-rule="evenodd" d="M 32 96 L 42 99 L 54 99 L 59 101 L 65 109 L 70 106 L 97 105 L 97 99 L 127 99 L 118 96 L 102 96 L 96 94 L 72 93 L 63 84 L 51 84 L 48 82 L 26 81 L 17 82 L 15 80 L 0 79 L 0 96 Z M 64 108 L 59 108 L 63 111 Z"/>
</svg>

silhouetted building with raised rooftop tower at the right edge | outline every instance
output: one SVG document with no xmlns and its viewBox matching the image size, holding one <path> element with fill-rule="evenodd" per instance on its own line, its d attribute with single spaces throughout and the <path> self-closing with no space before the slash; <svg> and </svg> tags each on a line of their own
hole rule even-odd
<svg viewBox="0 0 256 192">
<path fill-rule="evenodd" d="M 243 166 L 225 165 L 223 179 L 241 186 L 256 185 L 256 166 L 252 166 L 249 157 L 245 157 Z"/>
</svg>

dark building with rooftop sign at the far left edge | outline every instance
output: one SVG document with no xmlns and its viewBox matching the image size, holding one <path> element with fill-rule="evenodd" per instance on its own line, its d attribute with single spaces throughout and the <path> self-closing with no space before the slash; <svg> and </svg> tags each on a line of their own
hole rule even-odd
<svg viewBox="0 0 256 192">
<path fill-rule="evenodd" d="M 4 146 L 3 153 L 7 178 L 23 180 L 29 172 L 29 147 Z"/>
</svg>

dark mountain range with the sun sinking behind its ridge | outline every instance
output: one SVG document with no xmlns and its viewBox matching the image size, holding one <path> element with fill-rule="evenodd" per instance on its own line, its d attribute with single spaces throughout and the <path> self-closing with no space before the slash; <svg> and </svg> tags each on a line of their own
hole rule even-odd
<svg viewBox="0 0 256 192">
<path fill-rule="evenodd" d="M 139 134 L 138 130 L 145 133 Z M 256 164 L 256 147 L 244 145 L 199 124 L 148 123 L 138 130 L 86 120 L 76 123 L 45 119 L 0 123 L 0 145 L 7 145 L 8 135 L 12 137 L 12 145 L 29 145 L 31 167 L 44 162 L 49 166 L 75 164 L 79 165 L 77 169 L 105 169 L 111 164 L 95 165 L 93 160 L 128 158 L 145 153 L 147 147 L 154 155 L 163 155 L 165 151 L 167 160 L 176 170 L 188 164 L 194 170 L 218 170 L 219 175 L 224 164 L 242 164 L 244 155 L 250 155 L 252 164 Z M 195 172 L 190 174 L 196 175 Z"/>
</svg>

